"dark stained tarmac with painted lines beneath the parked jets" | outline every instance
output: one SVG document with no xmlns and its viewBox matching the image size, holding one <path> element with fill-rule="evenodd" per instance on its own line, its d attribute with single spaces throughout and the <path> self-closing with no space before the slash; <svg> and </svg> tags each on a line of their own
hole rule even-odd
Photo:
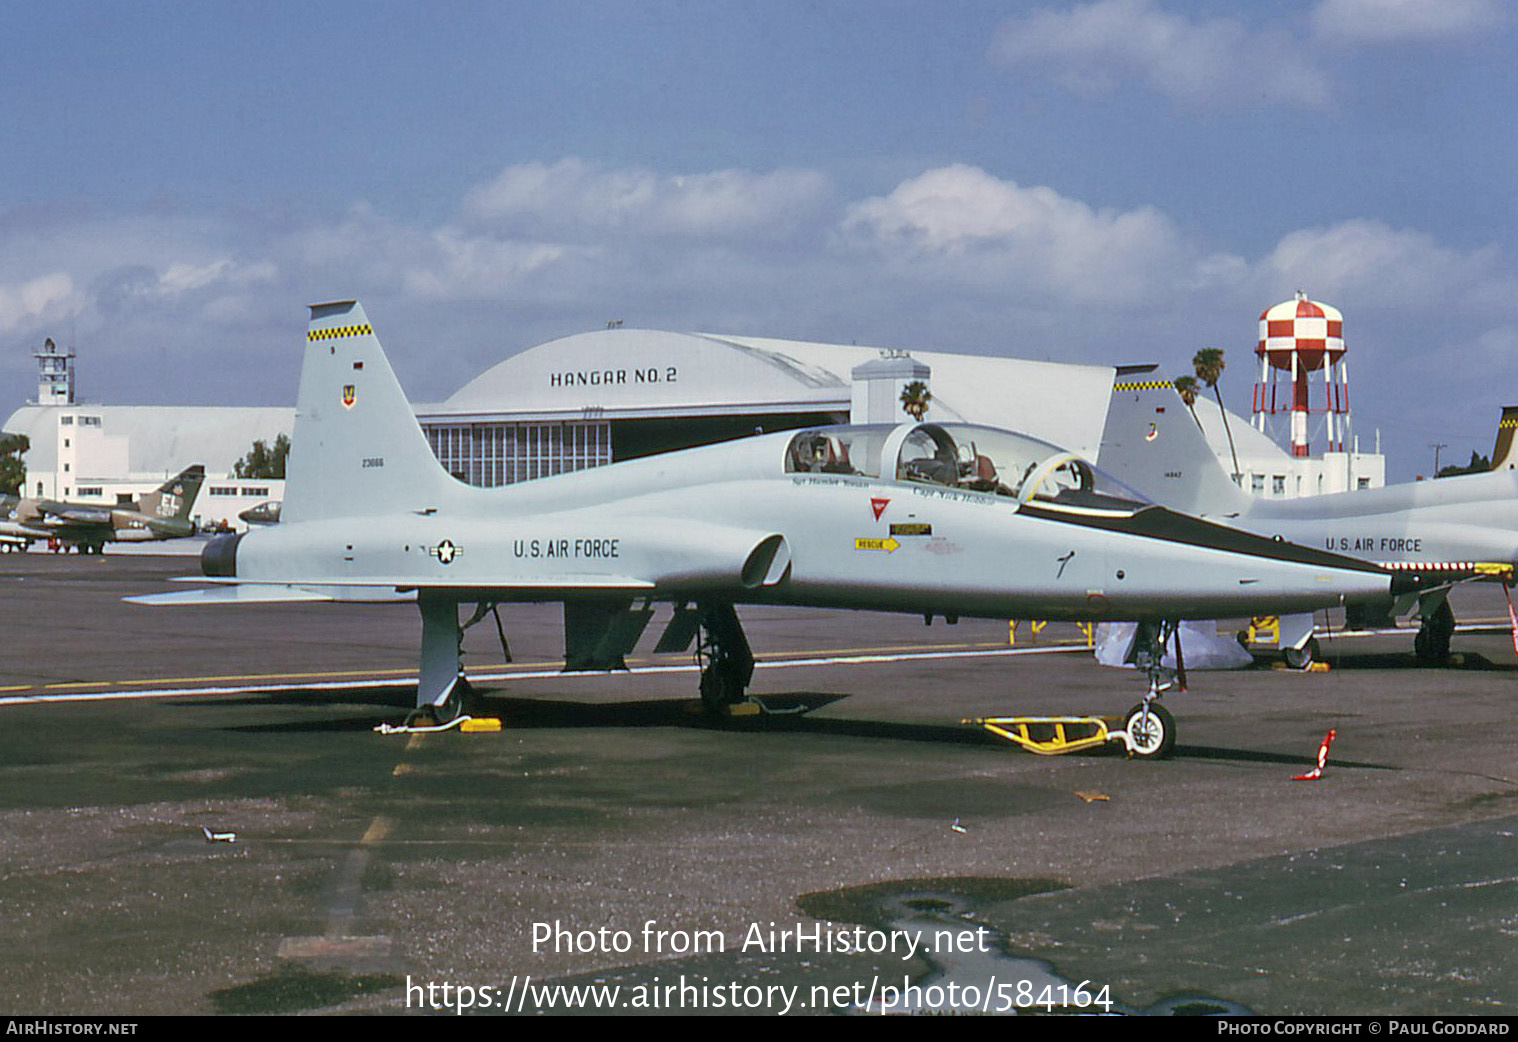
<svg viewBox="0 0 1518 1042">
<path fill-rule="evenodd" d="M 0 556 L 6 1013 L 1518 1012 L 1500 586 L 1450 668 L 1193 673 L 1134 761 L 961 725 L 1134 705 L 1073 626 L 779 608 L 739 609 L 774 714 L 697 712 L 668 609 L 560 674 L 524 605 L 513 661 L 466 636 L 501 732 L 378 734 L 414 606 L 121 602 L 194 571 Z"/>
</svg>

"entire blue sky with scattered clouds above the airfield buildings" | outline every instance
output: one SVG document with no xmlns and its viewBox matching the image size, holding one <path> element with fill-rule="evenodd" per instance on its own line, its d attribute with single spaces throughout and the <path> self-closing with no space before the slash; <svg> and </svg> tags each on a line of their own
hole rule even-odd
<svg viewBox="0 0 1518 1042">
<path fill-rule="evenodd" d="M 1498 0 L 3 5 L 0 415 L 288 404 L 358 296 L 413 399 L 627 325 L 1186 372 L 1339 307 L 1392 480 L 1518 403 Z M 1368 447 L 1368 445 L 1366 445 Z"/>
</svg>

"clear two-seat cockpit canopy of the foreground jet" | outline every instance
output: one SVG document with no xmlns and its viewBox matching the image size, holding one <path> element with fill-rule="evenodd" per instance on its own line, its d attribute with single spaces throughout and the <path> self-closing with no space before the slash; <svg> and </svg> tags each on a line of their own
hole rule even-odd
<svg viewBox="0 0 1518 1042">
<path fill-rule="evenodd" d="M 853 474 L 1081 510 L 1132 513 L 1149 501 L 1087 460 L 994 427 L 811 427 L 791 439 L 789 474 Z"/>
</svg>

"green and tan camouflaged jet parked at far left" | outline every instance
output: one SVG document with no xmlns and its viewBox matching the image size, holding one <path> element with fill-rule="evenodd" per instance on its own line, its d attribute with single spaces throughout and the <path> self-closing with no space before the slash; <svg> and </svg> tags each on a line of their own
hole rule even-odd
<svg viewBox="0 0 1518 1042">
<path fill-rule="evenodd" d="M 191 510 L 205 468 L 187 466 L 178 475 L 131 503 L 61 503 L 5 497 L 0 501 L 0 536 L 26 541 L 58 539 L 79 553 L 105 553 L 108 542 L 153 542 L 194 535 Z"/>
</svg>

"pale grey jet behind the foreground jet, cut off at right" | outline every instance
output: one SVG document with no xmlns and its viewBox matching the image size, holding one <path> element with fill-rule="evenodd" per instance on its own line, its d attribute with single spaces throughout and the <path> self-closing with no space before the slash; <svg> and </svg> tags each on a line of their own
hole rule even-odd
<svg viewBox="0 0 1518 1042">
<path fill-rule="evenodd" d="M 1454 633 L 1447 595 L 1456 582 L 1510 579 L 1518 565 L 1518 469 L 1257 500 L 1224 469 L 1158 366 L 1123 366 L 1113 384 L 1098 462 L 1154 501 L 1219 524 L 1362 557 L 1404 577 L 1406 592 L 1350 598 L 1353 629 L 1416 609 L 1418 658 L 1444 662 Z M 1510 448 L 1498 437 L 1498 456 Z M 1312 615 L 1281 618 L 1287 662 L 1316 652 Z"/>
</svg>

